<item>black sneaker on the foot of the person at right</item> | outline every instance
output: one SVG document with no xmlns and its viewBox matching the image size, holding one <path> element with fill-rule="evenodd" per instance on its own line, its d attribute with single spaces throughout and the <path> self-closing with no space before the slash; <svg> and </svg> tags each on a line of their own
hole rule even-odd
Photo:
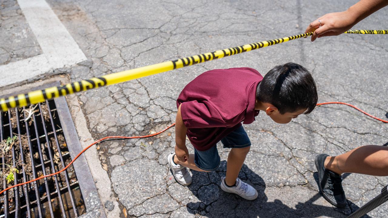
<svg viewBox="0 0 388 218">
<path fill-rule="evenodd" d="M 342 177 L 337 173 L 326 170 L 324 167 L 327 154 L 319 154 L 315 157 L 315 166 L 318 170 L 319 190 L 330 204 L 338 208 L 347 205 L 345 192 L 342 189 Z"/>
</svg>

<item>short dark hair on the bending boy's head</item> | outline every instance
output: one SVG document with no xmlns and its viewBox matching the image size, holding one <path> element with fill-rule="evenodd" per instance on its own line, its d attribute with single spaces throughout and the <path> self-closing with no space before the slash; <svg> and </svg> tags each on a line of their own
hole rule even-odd
<svg viewBox="0 0 388 218">
<path fill-rule="evenodd" d="M 256 97 L 261 102 L 268 102 L 281 114 L 294 112 L 303 108 L 309 114 L 317 101 L 317 87 L 310 72 L 295 63 L 275 66 L 259 83 Z"/>
</svg>

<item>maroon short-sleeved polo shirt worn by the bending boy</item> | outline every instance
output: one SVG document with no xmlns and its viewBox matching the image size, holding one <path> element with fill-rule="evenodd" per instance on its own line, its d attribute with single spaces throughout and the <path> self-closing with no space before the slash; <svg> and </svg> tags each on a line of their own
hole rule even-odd
<svg viewBox="0 0 388 218">
<path fill-rule="evenodd" d="M 199 151 L 206 151 L 244 124 L 252 123 L 256 88 L 263 76 L 248 67 L 214 69 L 192 80 L 180 93 L 177 107 L 187 137 Z"/>
</svg>

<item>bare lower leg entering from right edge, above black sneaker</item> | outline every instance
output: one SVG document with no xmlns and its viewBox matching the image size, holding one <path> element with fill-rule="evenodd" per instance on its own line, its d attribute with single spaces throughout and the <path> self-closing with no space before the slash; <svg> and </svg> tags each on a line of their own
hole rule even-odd
<svg viewBox="0 0 388 218">
<path fill-rule="evenodd" d="M 338 174 L 361 173 L 388 176 L 388 147 L 365 145 L 344 154 L 327 157 L 324 166 Z"/>
</svg>

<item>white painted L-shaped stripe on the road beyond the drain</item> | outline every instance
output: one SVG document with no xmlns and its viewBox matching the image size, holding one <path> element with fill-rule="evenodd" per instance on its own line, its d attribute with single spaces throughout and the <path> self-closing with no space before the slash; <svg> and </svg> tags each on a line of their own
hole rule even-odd
<svg viewBox="0 0 388 218">
<path fill-rule="evenodd" d="M 17 0 L 17 3 L 43 54 L 0 66 L 0 87 L 87 60 L 45 0 Z"/>
</svg>

